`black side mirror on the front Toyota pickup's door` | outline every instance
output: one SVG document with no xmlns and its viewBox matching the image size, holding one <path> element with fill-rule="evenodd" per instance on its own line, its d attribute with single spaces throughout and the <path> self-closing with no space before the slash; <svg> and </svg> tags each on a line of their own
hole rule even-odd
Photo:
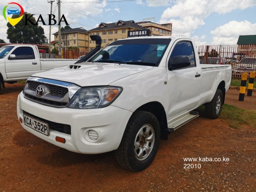
<svg viewBox="0 0 256 192">
<path fill-rule="evenodd" d="M 190 58 L 188 56 L 176 56 L 168 61 L 168 69 L 170 71 L 190 66 Z"/>
</svg>

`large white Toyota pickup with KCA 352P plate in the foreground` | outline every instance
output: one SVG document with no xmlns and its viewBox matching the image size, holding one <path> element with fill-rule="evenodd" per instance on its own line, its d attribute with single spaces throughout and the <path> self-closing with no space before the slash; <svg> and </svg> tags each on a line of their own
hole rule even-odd
<svg viewBox="0 0 256 192">
<path fill-rule="evenodd" d="M 231 66 L 200 65 L 190 38 L 122 39 L 84 63 L 28 78 L 17 114 L 45 141 L 82 154 L 115 150 L 119 164 L 137 172 L 151 164 L 160 138 L 198 117 L 198 106 L 218 118 L 230 83 Z"/>
</svg>

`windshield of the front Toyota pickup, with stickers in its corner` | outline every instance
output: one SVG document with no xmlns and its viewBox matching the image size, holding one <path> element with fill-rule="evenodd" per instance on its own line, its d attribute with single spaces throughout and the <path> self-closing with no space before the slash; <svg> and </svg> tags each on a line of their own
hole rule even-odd
<svg viewBox="0 0 256 192">
<path fill-rule="evenodd" d="M 117 40 L 96 53 L 88 62 L 158 66 L 170 39 Z"/>
</svg>

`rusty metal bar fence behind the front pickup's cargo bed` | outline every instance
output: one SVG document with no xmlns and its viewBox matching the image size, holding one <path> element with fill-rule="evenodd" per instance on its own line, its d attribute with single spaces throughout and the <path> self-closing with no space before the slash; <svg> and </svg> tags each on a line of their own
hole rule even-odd
<svg viewBox="0 0 256 192">
<path fill-rule="evenodd" d="M 256 71 L 256 45 L 199 45 L 197 50 L 200 63 L 230 64 L 233 77 Z"/>
</svg>

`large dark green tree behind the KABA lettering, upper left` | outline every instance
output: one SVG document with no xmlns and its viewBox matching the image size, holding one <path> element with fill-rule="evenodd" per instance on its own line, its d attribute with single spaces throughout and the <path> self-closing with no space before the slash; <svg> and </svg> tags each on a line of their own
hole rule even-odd
<svg viewBox="0 0 256 192">
<path fill-rule="evenodd" d="M 30 13 L 24 13 L 28 14 L 28 18 L 30 18 Z M 18 15 L 13 15 L 12 18 L 18 18 Z M 29 20 L 31 22 L 36 23 L 36 20 L 34 17 L 31 17 Z M 43 39 L 46 38 L 44 35 L 44 30 L 41 26 L 33 25 L 32 23 L 28 22 L 28 25 L 25 25 L 25 15 L 20 20 L 19 23 L 17 23 L 15 26 L 11 25 L 10 23 L 7 23 L 7 38 L 10 40 L 10 43 L 35 43 L 35 44 L 41 44 L 43 42 Z M 41 42 L 40 42 L 41 40 Z"/>
</svg>

